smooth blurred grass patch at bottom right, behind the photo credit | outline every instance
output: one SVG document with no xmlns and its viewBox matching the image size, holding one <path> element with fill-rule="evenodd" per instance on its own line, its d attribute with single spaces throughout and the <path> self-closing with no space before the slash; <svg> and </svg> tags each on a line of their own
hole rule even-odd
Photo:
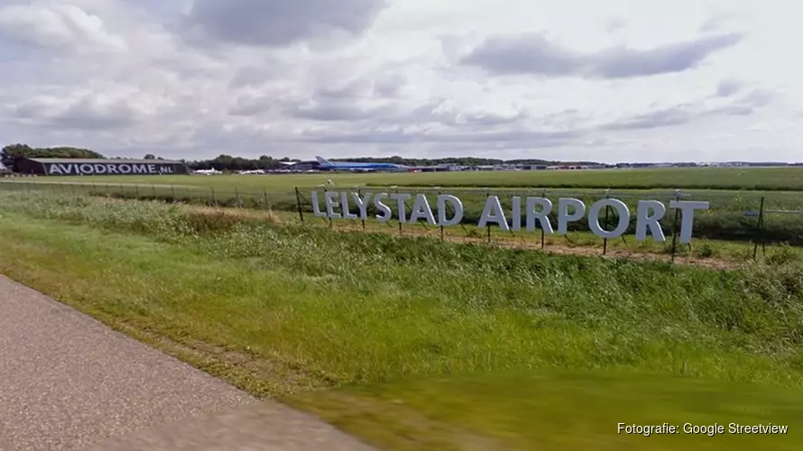
<svg viewBox="0 0 803 451">
<path fill-rule="evenodd" d="M 288 402 L 400 451 L 792 451 L 801 444 L 801 400 L 799 391 L 596 371 L 411 379 L 309 391 Z M 667 424 L 678 433 L 628 433 L 620 423 Z M 789 432 L 731 434 L 732 424 Z M 689 434 L 684 425 L 719 425 L 724 433 Z"/>
</svg>

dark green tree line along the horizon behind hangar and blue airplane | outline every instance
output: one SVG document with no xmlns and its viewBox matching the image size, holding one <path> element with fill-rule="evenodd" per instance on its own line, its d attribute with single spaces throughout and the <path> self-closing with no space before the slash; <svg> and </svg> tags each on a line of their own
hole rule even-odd
<svg viewBox="0 0 803 451">
<path fill-rule="evenodd" d="M 31 147 L 27 144 L 10 144 L 6 145 L 0 151 L 0 161 L 3 162 L 9 170 L 17 171 L 16 162 L 21 158 L 60 158 L 60 159 L 110 159 L 110 160 L 128 160 L 124 157 L 108 158 L 99 152 L 89 149 L 78 147 Z M 162 157 L 148 153 L 144 157 L 137 157 L 136 159 L 144 160 L 165 160 Z M 291 159 L 288 157 L 273 158 L 268 155 L 261 155 L 258 158 L 245 158 L 235 157 L 232 155 L 221 154 L 209 160 L 180 160 L 186 164 L 189 170 L 276 170 L 281 169 L 284 165 L 282 163 L 298 162 L 298 159 Z M 405 166 L 436 166 L 439 164 L 457 164 L 460 166 L 490 166 L 497 164 L 531 164 L 531 165 L 553 165 L 553 164 L 567 164 L 560 161 L 546 161 L 546 160 L 498 160 L 492 158 L 475 158 L 475 157 L 452 157 L 452 158 L 437 158 L 437 159 L 422 159 L 422 158 L 403 158 L 398 155 L 385 158 L 345 158 L 345 159 L 332 159 L 332 161 L 357 161 L 357 162 L 389 162 L 396 164 L 403 164 Z M 593 161 L 577 161 L 570 164 L 595 164 Z"/>
</svg>

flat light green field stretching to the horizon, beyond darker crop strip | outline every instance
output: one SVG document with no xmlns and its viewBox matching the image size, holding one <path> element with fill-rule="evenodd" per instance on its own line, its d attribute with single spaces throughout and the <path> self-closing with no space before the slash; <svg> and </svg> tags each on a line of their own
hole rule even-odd
<svg viewBox="0 0 803 451">
<path fill-rule="evenodd" d="M 42 178 L 44 179 L 44 178 Z M 803 190 L 803 167 L 671 168 L 639 170 L 523 170 L 374 174 L 275 174 L 266 176 L 93 176 L 53 177 L 60 181 L 189 185 L 244 191 L 291 191 L 334 180 L 351 187 L 568 188 L 568 189 L 750 189 Z M 158 180 L 158 181 L 154 181 Z"/>
</svg>

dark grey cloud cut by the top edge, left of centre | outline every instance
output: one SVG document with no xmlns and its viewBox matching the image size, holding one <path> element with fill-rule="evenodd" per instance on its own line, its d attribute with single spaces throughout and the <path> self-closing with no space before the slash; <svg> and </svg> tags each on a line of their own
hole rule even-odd
<svg viewBox="0 0 803 451">
<path fill-rule="evenodd" d="M 284 47 L 358 35 L 383 10 L 384 0 L 195 0 L 180 26 L 190 40 Z"/>
</svg>

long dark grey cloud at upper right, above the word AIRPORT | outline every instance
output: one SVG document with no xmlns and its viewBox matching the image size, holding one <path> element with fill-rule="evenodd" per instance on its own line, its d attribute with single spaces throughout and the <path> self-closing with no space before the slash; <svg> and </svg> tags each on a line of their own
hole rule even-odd
<svg viewBox="0 0 803 451">
<path fill-rule="evenodd" d="M 549 41 L 543 35 L 528 34 L 488 38 L 460 62 L 498 75 L 646 77 L 694 69 L 710 54 L 732 47 L 742 38 L 738 33 L 718 34 L 649 50 L 620 47 L 581 53 Z"/>
</svg>

